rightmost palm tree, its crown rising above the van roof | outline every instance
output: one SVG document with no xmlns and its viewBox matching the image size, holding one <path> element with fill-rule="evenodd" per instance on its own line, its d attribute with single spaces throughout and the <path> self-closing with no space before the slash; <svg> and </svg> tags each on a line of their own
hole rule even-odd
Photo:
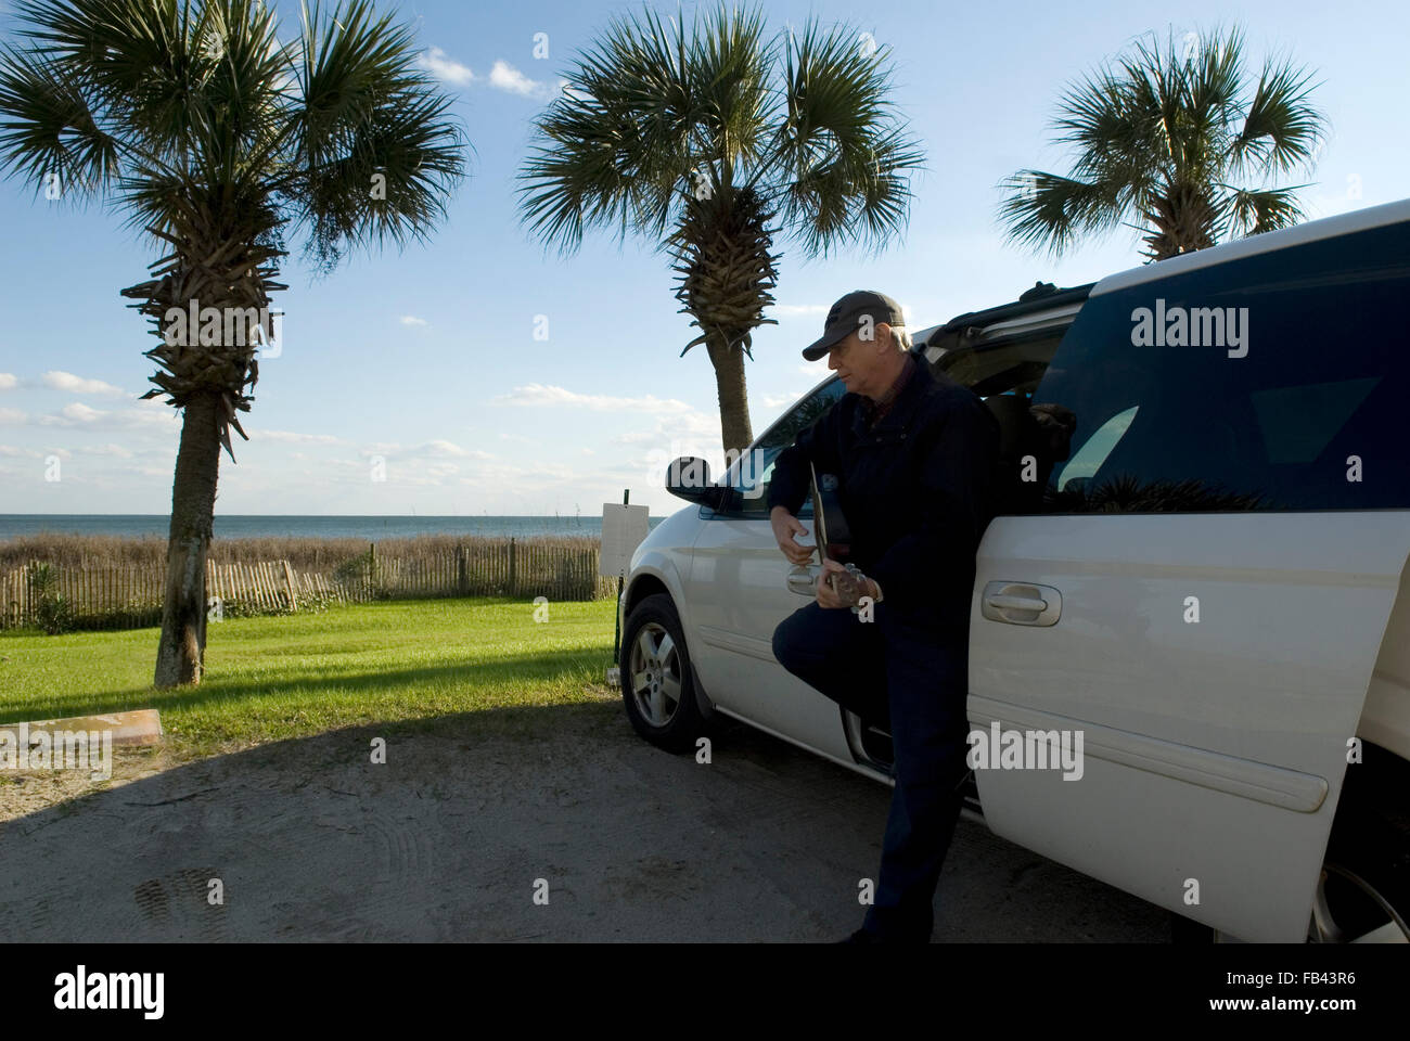
<svg viewBox="0 0 1410 1041">
<path fill-rule="evenodd" d="M 1012 241 L 1060 255 L 1083 234 L 1120 224 L 1144 233 L 1149 260 L 1304 219 L 1296 193 L 1270 183 L 1310 168 L 1327 131 L 1310 75 L 1263 62 L 1253 83 L 1244 35 L 1152 37 L 1069 87 L 1053 124 L 1076 155 L 1066 176 L 1005 178 L 1000 220 Z"/>
</svg>

